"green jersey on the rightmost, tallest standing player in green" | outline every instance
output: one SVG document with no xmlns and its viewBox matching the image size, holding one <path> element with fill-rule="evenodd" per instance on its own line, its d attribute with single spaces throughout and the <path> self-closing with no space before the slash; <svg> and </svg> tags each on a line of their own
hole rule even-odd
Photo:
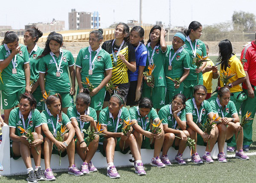
<svg viewBox="0 0 256 183">
<path fill-rule="evenodd" d="M 198 79 L 203 79 L 203 73 L 195 73 L 195 69 L 197 68 L 192 62 L 193 62 L 193 50 L 195 50 L 196 48 L 196 53 L 198 53 L 200 56 L 202 56 L 203 54 L 203 58 L 207 57 L 207 53 L 206 53 L 206 47 L 204 42 L 202 42 L 200 39 L 195 39 L 194 42 L 192 43 L 192 47 L 189 43 L 189 37 L 186 37 L 186 41 L 185 44 L 183 45 L 183 47 L 185 48 L 185 50 L 189 53 L 190 56 L 190 70 L 189 70 L 189 76 L 187 76 L 186 80 L 191 81 L 191 80 L 197 80 L 197 76 Z"/>
</svg>

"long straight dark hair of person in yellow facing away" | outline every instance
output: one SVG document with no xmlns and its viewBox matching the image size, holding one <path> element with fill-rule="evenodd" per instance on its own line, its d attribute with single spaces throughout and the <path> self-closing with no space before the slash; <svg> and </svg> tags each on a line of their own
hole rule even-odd
<svg viewBox="0 0 256 183">
<path fill-rule="evenodd" d="M 233 52 L 232 44 L 230 40 L 225 39 L 219 42 L 218 46 L 219 46 L 219 56 L 218 56 L 217 62 L 221 63 L 221 69 L 223 69 L 223 66 L 224 66 L 224 70 L 226 70 L 228 66 L 228 61 L 231 58 L 232 52 Z"/>
</svg>

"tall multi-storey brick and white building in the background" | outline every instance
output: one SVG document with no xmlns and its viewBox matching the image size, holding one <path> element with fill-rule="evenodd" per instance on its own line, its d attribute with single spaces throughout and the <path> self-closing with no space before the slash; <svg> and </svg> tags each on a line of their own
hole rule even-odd
<svg viewBox="0 0 256 183">
<path fill-rule="evenodd" d="M 98 29 L 100 27 L 100 14 L 98 11 L 77 12 L 76 9 L 71 9 L 68 13 L 69 30 L 78 29 Z"/>
</svg>

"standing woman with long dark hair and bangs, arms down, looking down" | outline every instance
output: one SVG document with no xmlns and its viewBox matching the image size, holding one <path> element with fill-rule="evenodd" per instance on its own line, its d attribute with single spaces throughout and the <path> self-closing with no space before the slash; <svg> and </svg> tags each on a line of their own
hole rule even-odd
<svg viewBox="0 0 256 183">
<path fill-rule="evenodd" d="M 74 58 L 70 51 L 63 50 L 63 38 L 61 34 L 51 32 L 45 42 L 44 51 L 38 59 L 39 84 L 41 93 L 60 93 L 63 112 L 67 114 L 67 108 L 73 106 L 73 95 L 76 93 L 76 73 Z M 68 76 L 70 72 L 70 79 Z M 47 74 L 46 74 L 47 73 Z M 45 82 L 44 82 L 45 78 Z"/>
</svg>

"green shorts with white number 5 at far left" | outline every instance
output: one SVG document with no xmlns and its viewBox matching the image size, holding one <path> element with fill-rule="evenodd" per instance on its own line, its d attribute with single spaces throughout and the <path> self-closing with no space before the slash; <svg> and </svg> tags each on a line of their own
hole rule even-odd
<svg viewBox="0 0 256 183">
<path fill-rule="evenodd" d="M 20 94 L 25 92 L 26 87 L 2 90 L 3 109 L 11 109 L 19 104 Z"/>
</svg>

